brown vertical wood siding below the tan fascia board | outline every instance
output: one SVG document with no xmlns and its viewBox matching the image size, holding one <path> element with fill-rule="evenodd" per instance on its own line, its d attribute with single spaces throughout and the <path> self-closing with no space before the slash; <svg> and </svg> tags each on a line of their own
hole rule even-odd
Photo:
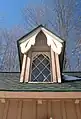
<svg viewBox="0 0 81 119">
<path fill-rule="evenodd" d="M 81 119 L 81 102 L 75 100 L 6 100 L 0 102 L 0 119 Z"/>
</svg>

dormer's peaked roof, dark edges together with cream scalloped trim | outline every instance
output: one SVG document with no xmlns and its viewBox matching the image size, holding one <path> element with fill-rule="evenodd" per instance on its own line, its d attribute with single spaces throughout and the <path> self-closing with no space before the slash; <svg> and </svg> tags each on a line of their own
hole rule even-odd
<svg viewBox="0 0 81 119">
<path fill-rule="evenodd" d="M 49 29 L 45 28 L 43 25 L 39 25 L 38 27 L 36 27 L 31 32 L 27 33 L 17 41 L 20 69 L 21 69 L 21 54 L 26 53 L 31 48 L 31 45 L 35 44 L 35 38 L 40 31 L 43 31 L 43 33 L 46 35 L 48 46 L 51 46 L 53 51 L 58 53 L 59 55 L 62 54 L 63 57 L 65 41 L 52 31 L 50 31 Z"/>
</svg>

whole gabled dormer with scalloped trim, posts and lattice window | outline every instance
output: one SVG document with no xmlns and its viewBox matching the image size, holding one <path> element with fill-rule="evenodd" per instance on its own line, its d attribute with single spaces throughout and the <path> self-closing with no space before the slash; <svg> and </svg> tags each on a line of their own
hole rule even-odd
<svg viewBox="0 0 81 119">
<path fill-rule="evenodd" d="M 40 25 L 18 40 L 20 82 L 61 83 L 64 41 Z"/>
</svg>

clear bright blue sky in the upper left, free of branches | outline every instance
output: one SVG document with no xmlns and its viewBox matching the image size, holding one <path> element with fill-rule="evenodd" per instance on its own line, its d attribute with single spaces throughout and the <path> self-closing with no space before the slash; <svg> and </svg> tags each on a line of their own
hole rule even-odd
<svg viewBox="0 0 81 119">
<path fill-rule="evenodd" d="M 22 23 L 22 10 L 40 0 L 0 0 L 0 28 L 12 28 Z"/>
</svg>

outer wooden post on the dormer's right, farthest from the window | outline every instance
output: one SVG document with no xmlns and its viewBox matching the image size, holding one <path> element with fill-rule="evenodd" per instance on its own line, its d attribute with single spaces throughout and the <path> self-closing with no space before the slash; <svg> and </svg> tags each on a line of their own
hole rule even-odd
<svg viewBox="0 0 81 119">
<path fill-rule="evenodd" d="M 60 63 L 59 63 L 58 54 L 55 54 L 55 58 L 56 58 L 57 80 L 58 83 L 61 83 L 61 72 L 60 72 Z"/>
</svg>

